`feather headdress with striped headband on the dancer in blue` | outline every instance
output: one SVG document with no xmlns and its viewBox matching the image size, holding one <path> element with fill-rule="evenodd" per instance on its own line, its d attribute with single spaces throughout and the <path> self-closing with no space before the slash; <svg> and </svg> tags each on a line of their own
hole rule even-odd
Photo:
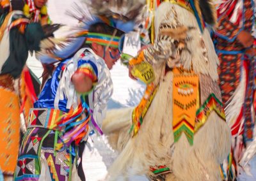
<svg viewBox="0 0 256 181">
<path fill-rule="evenodd" d="M 44 57 L 41 57 L 41 61 L 47 64 L 60 61 L 77 52 L 84 43 L 93 41 L 101 45 L 118 47 L 120 37 L 116 36 L 116 31 L 113 31 L 113 34 L 90 32 L 91 25 L 104 23 L 113 29 L 128 33 L 140 24 L 143 6 L 145 0 L 81 0 L 80 4 L 74 4 L 67 12 L 68 15 L 79 20 L 78 31 L 72 33 L 66 40 L 43 42 Z M 47 56 L 45 56 L 46 52 Z"/>
</svg>

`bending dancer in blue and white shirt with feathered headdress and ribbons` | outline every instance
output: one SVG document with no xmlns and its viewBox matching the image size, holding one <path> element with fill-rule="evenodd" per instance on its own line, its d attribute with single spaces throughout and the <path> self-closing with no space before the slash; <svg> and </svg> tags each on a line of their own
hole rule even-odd
<svg viewBox="0 0 256 181">
<path fill-rule="evenodd" d="M 120 57 L 120 36 L 133 30 L 143 2 L 84 3 L 72 13 L 83 22 L 80 31 L 66 47 L 40 59 L 59 64 L 30 111 L 15 180 L 79 180 L 77 146 L 92 129 L 102 134 L 100 125 L 113 92 L 109 69 Z"/>
</svg>

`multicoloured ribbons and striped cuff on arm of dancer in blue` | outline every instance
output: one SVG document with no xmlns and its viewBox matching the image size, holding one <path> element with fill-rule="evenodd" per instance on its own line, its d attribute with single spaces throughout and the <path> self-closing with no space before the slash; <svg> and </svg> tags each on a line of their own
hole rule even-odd
<svg viewBox="0 0 256 181">
<path fill-rule="evenodd" d="M 79 72 L 88 76 L 92 80 L 94 87 L 97 83 L 97 66 L 92 61 L 83 60 L 84 56 L 86 56 L 84 53 L 80 56 L 81 60 L 78 62 L 78 69 L 76 73 Z M 88 134 L 90 122 L 92 122 L 93 126 L 99 130 L 99 126 L 97 126 L 93 120 L 91 116 L 92 112 L 90 112 L 90 108 L 86 103 L 87 95 L 93 91 L 93 87 L 90 91 L 81 94 L 81 103 L 75 110 L 71 108 L 70 111 L 60 117 L 54 125 L 54 127 L 59 127 L 60 129 L 65 127 L 65 133 L 56 145 L 57 150 L 63 147 L 63 145 L 68 147 L 73 141 L 78 145 L 79 142 Z"/>
</svg>

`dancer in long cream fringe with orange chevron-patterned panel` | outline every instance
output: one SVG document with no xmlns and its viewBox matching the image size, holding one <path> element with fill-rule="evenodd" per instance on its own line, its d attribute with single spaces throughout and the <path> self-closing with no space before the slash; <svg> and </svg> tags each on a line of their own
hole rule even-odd
<svg viewBox="0 0 256 181">
<path fill-rule="evenodd" d="M 221 180 L 231 143 L 219 61 L 204 29 L 205 22 L 214 24 L 214 10 L 205 0 L 158 7 L 154 45 L 129 62 L 136 70 L 149 62 L 156 78 L 133 111 L 113 110 L 103 122 L 109 143 L 120 151 L 110 180 L 128 170 L 152 180 Z"/>
</svg>

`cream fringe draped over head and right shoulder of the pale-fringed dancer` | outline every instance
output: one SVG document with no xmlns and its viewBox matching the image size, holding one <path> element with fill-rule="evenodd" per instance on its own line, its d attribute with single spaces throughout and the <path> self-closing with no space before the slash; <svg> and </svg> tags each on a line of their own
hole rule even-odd
<svg viewBox="0 0 256 181">
<path fill-rule="evenodd" d="M 195 28 L 188 31 L 188 37 L 191 38 L 191 40 L 186 41 L 189 52 L 182 51 L 180 62 L 185 69 L 193 67 L 195 73 L 203 73 L 211 76 L 212 80 L 218 80 L 217 67 L 219 60 L 209 32 L 207 29 L 204 30 L 203 34 L 200 32 L 195 16 L 188 10 L 176 4 L 162 3 L 156 14 L 156 38 L 161 23 L 166 21 L 165 17 L 172 8 L 176 11 L 180 24 Z"/>
</svg>

